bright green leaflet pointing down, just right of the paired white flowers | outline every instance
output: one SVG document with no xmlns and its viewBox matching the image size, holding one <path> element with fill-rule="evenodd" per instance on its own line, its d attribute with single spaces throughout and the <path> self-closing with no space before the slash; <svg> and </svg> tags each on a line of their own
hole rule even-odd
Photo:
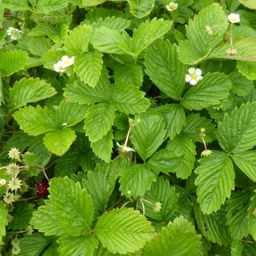
<svg viewBox="0 0 256 256">
<path fill-rule="evenodd" d="M 83 52 L 76 57 L 74 70 L 84 83 L 95 87 L 100 78 L 102 63 L 102 52 Z"/>
</svg>

